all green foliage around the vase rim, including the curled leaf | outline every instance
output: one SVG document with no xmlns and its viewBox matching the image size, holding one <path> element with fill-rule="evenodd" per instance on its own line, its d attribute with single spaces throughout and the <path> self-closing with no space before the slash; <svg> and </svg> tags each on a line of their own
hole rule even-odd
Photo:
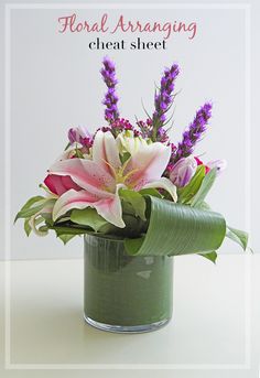
<svg viewBox="0 0 260 378">
<path fill-rule="evenodd" d="M 216 179 L 216 170 L 205 175 L 205 166 L 197 168 L 191 183 L 178 190 L 178 203 L 165 199 L 155 188 L 134 192 L 121 188 L 122 217 L 126 228 L 118 228 L 102 218 L 95 208 L 73 209 L 58 222 L 44 208 L 52 207 L 56 198 L 34 196 L 18 213 L 15 220 L 24 219 L 24 230 L 39 235 L 53 229 L 64 242 L 77 235 L 91 234 L 111 239 L 124 239 L 124 247 L 132 256 L 176 256 L 198 253 L 216 262 L 216 250 L 224 237 L 247 249 L 248 234 L 226 227 L 220 214 L 210 210 L 205 197 Z M 15 222 L 14 220 L 14 222 Z M 39 228 L 36 226 L 40 225 Z"/>
</svg>

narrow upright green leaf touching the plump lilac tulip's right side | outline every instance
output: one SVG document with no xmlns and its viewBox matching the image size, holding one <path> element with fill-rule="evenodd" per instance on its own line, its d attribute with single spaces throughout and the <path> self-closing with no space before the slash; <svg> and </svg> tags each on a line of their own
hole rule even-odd
<svg viewBox="0 0 260 378">
<path fill-rule="evenodd" d="M 198 192 L 198 190 L 199 190 L 199 187 L 201 187 L 201 185 L 203 183 L 203 180 L 205 177 L 205 174 L 206 174 L 205 166 L 204 165 L 199 165 L 197 168 L 197 170 L 196 170 L 195 175 L 191 180 L 191 182 L 186 186 L 178 188 L 178 191 L 177 191 L 177 196 L 178 196 L 177 202 L 181 202 L 182 204 L 191 203 L 193 197 Z"/>
</svg>

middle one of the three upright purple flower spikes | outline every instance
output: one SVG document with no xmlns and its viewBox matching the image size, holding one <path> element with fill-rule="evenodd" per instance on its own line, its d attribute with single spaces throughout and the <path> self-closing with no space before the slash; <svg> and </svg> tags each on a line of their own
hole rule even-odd
<svg viewBox="0 0 260 378">
<path fill-rule="evenodd" d="M 162 127 L 166 120 L 165 112 L 169 110 L 173 101 L 174 82 L 178 73 L 180 68 L 176 64 L 173 64 L 171 68 L 165 68 L 161 78 L 159 93 L 154 96 L 155 110 L 153 112 L 152 120 L 155 140 L 159 128 Z"/>
</svg>

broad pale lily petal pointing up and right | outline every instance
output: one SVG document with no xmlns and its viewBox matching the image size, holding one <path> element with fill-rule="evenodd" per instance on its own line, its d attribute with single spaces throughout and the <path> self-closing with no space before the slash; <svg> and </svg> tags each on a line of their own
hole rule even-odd
<svg viewBox="0 0 260 378">
<path fill-rule="evenodd" d="M 139 191 L 147 183 L 159 180 L 171 156 L 171 147 L 155 142 L 143 145 L 130 159 L 123 174 L 126 184 Z"/>
</svg>

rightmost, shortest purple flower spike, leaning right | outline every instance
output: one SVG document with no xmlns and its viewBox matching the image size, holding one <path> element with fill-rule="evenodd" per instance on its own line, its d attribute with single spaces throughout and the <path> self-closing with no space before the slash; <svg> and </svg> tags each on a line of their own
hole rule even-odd
<svg viewBox="0 0 260 378">
<path fill-rule="evenodd" d="M 181 158 L 188 156 L 193 153 L 195 144 L 202 139 L 206 131 L 206 126 L 212 117 L 212 104 L 206 102 L 198 111 L 183 133 L 183 140 L 178 143 L 177 150 L 174 153 L 173 161 L 177 162 Z"/>
</svg>

